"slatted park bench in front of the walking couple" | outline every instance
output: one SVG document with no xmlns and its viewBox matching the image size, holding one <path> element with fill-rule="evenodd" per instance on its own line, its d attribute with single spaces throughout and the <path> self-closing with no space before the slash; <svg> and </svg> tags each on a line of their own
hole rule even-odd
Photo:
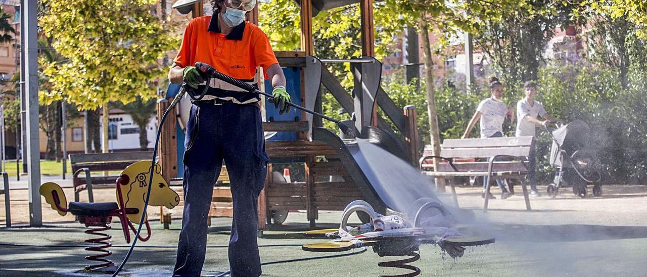
<svg viewBox="0 0 647 277">
<path fill-rule="evenodd" d="M 455 204 L 458 205 L 454 188 L 455 179 L 459 177 L 486 177 L 487 193 L 494 177 L 500 179 L 519 179 L 527 210 L 531 210 L 525 177 L 529 170 L 527 157 L 534 148 L 533 137 L 501 137 L 489 139 L 446 139 L 441 145 L 439 156 L 430 153 L 420 159 L 422 170 L 433 168 L 429 163 L 433 158 L 441 159 L 437 171 L 424 171 L 426 175 L 437 179 L 448 180 Z M 490 161 L 487 161 L 488 158 Z M 494 161 L 501 158 L 501 161 Z M 487 212 L 488 197 L 485 197 L 483 210 Z"/>
</svg>

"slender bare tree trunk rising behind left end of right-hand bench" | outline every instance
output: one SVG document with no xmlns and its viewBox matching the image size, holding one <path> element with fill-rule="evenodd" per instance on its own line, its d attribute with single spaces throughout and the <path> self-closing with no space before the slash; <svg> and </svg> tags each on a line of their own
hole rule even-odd
<svg viewBox="0 0 647 277">
<path fill-rule="evenodd" d="M 429 29 L 427 26 L 426 15 L 422 14 L 420 18 L 420 29 L 422 34 L 422 53 L 424 56 L 424 72 L 426 74 L 426 91 L 427 91 L 427 113 L 429 115 L 429 134 L 432 142 L 432 155 L 438 156 L 441 153 L 441 138 L 438 129 L 438 114 L 436 110 L 435 91 L 433 89 L 433 60 L 432 48 L 429 41 Z M 433 170 L 437 170 L 440 159 L 433 159 Z M 445 191 L 443 179 L 436 179 L 436 189 L 440 192 Z"/>
</svg>

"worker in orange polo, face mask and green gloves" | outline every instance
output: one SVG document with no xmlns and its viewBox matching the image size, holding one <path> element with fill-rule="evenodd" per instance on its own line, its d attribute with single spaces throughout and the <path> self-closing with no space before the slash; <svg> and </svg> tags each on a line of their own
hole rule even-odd
<svg viewBox="0 0 647 277">
<path fill-rule="evenodd" d="M 184 214 L 173 276 L 200 276 L 206 251 L 207 216 L 223 161 L 229 175 L 234 219 L 229 241 L 232 276 L 259 276 L 257 201 L 265 185 L 265 137 L 260 96 L 222 80 L 207 79 L 193 65 L 208 63 L 233 78 L 258 85 L 257 67 L 272 82 L 274 105 L 284 113 L 290 96 L 285 76 L 267 35 L 246 22 L 256 0 L 211 0 L 213 16 L 197 17 L 184 32 L 168 78 L 201 92 L 186 124 L 184 141 Z"/>
</svg>

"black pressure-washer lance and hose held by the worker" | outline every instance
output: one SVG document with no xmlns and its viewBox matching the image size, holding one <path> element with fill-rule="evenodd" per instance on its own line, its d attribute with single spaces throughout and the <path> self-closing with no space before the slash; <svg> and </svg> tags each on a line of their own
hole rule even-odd
<svg viewBox="0 0 647 277">
<path fill-rule="evenodd" d="M 206 86 L 204 87 L 202 93 L 200 94 L 200 96 L 196 97 L 191 93 L 189 94 L 191 96 L 191 98 L 193 98 L 193 100 L 200 100 L 200 99 L 202 99 L 204 97 L 204 95 L 206 94 L 206 91 L 207 91 L 207 89 L 209 87 L 209 78 L 212 78 L 212 77 L 223 80 L 223 81 L 225 81 L 227 83 L 230 83 L 232 85 L 236 85 L 237 87 L 240 87 L 241 89 L 245 89 L 246 91 L 249 91 L 250 93 L 263 94 L 263 95 L 265 95 L 265 96 L 267 96 L 269 98 L 274 98 L 274 96 L 272 96 L 272 94 L 263 93 L 262 91 L 259 91 L 258 89 L 256 89 L 256 87 L 254 87 L 253 85 L 250 85 L 248 83 L 242 82 L 241 80 L 234 79 L 234 78 L 232 78 L 230 76 L 227 76 L 227 75 L 225 75 L 225 74 L 223 74 L 221 72 L 218 72 L 213 67 L 211 67 L 210 65 L 208 65 L 206 63 L 197 62 L 197 63 L 195 63 L 195 67 L 197 69 L 199 69 L 199 71 L 201 71 L 207 77 L 207 83 L 206 83 Z M 182 85 L 182 88 L 180 89 L 177 96 L 175 96 L 175 98 L 173 98 L 173 102 L 171 102 L 171 105 L 169 105 L 168 109 L 166 109 L 166 111 L 164 111 L 164 115 L 162 115 L 162 118 L 160 119 L 159 126 L 162 126 L 164 124 L 164 121 L 166 120 L 166 116 L 168 116 L 168 113 L 173 110 L 173 107 L 175 107 L 175 105 L 177 105 L 180 102 L 182 97 L 184 97 L 184 94 L 187 93 L 187 91 L 188 91 L 187 86 L 188 85 L 186 83 L 184 83 Z M 312 111 L 310 109 L 306 109 L 305 107 L 302 107 L 300 105 L 292 104 L 291 102 L 286 102 L 285 104 L 291 105 L 292 107 L 295 107 L 296 109 L 300 109 L 302 111 L 305 111 L 306 113 L 311 113 L 313 115 L 319 116 L 319 117 L 324 118 L 326 120 L 330 120 L 330 121 L 336 123 L 340 127 L 340 129 L 342 129 L 342 132 L 344 132 L 346 135 L 348 135 L 349 137 L 355 137 L 355 132 L 353 132 L 352 129 L 350 129 L 348 126 L 346 126 L 345 124 L 343 124 L 339 120 L 334 120 L 334 118 L 322 115 L 321 113 L 317 113 L 316 111 Z M 158 149 L 158 146 L 159 146 L 159 140 L 160 140 L 160 135 L 161 134 L 162 134 L 162 128 L 160 127 L 160 128 L 157 129 L 157 135 L 155 136 L 155 146 L 153 147 L 153 157 L 151 159 L 151 172 L 150 172 L 150 177 L 148 179 L 148 184 L 153 183 L 153 173 L 155 172 L 155 158 L 157 157 L 157 149 Z M 137 239 L 139 238 L 139 234 L 142 232 L 142 225 L 144 225 L 144 219 L 146 218 L 146 210 L 148 208 L 148 202 L 149 202 L 150 197 L 151 197 L 151 186 L 149 185 L 148 190 L 146 192 L 146 199 L 144 201 L 144 210 L 142 211 L 142 219 L 140 219 L 140 221 L 139 221 L 139 227 L 137 228 L 137 233 L 135 233 L 135 238 L 133 239 L 133 243 L 131 244 L 130 249 L 126 253 L 126 257 L 124 257 L 124 260 L 120 263 L 120 265 L 117 268 L 117 270 L 115 271 L 115 273 L 113 273 L 113 277 L 117 276 L 117 274 L 119 274 L 119 272 L 121 272 L 122 269 L 124 269 L 124 265 L 126 265 L 128 259 L 130 258 L 130 255 L 133 254 L 133 250 L 135 249 L 135 245 L 137 244 Z"/>
</svg>

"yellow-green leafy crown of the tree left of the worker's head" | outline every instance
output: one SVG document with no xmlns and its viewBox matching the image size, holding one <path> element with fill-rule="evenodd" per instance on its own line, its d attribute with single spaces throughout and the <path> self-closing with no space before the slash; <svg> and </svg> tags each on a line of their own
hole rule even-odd
<svg viewBox="0 0 647 277">
<path fill-rule="evenodd" d="M 155 95 L 154 82 L 167 71 L 160 59 L 179 45 L 173 25 L 151 14 L 156 3 L 43 0 L 39 23 L 67 62 L 41 65 L 52 89 L 41 93 L 40 101 L 67 98 L 82 109 L 96 109 Z"/>
</svg>

